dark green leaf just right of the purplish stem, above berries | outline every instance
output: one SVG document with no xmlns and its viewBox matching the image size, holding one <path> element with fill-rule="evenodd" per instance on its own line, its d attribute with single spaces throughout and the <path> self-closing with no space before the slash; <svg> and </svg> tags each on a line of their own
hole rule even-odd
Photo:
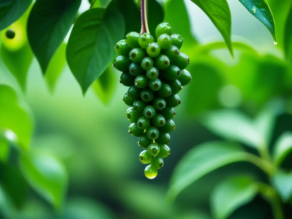
<svg viewBox="0 0 292 219">
<path fill-rule="evenodd" d="M 156 0 L 147 0 L 149 32 L 155 38 L 155 29 L 164 20 L 164 12 Z M 140 19 L 141 20 L 141 19 Z M 141 24 L 140 24 L 141 25 Z"/>
</svg>

